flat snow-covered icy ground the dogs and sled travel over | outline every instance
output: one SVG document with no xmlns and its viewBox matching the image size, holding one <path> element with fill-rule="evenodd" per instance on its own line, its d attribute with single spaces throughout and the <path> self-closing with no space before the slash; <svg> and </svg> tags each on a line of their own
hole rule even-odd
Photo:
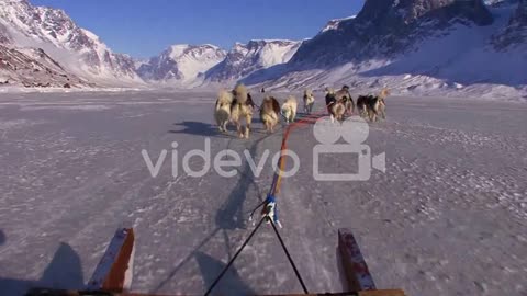
<svg viewBox="0 0 527 296">
<path fill-rule="evenodd" d="M 82 287 L 121 226 L 136 230 L 134 291 L 203 293 L 251 229 L 247 212 L 269 189 L 270 162 L 259 178 L 245 161 L 231 179 L 212 171 L 173 178 L 169 152 L 152 178 L 141 150 L 156 160 L 177 141 L 181 159 L 209 137 L 212 156 L 278 151 L 281 132 L 264 134 L 258 116 L 250 140 L 218 135 L 213 104 L 204 92 L 1 94 L 0 294 Z M 279 196 L 281 234 L 307 288 L 343 289 L 337 229 L 348 227 L 380 288 L 526 295 L 527 105 L 441 98 L 388 104 L 388 121 L 370 125 L 367 141 L 373 153 L 386 152 L 386 172 L 368 182 L 315 182 L 312 128 L 291 136 L 301 169 Z M 327 172 L 357 166 L 341 156 L 322 160 Z M 270 227 L 216 292 L 233 289 L 301 291 Z"/>
</svg>

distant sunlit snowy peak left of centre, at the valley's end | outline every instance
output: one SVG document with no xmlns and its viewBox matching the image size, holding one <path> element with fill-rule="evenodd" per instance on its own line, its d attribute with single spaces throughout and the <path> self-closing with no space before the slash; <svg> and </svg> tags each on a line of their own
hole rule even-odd
<svg viewBox="0 0 527 296">
<path fill-rule="evenodd" d="M 217 46 L 172 45 L 159 56 L 153 57 L 137 68 L 139 76 L 147 81 L 192 82 L 225 59 L 225 50 Z"/>
</svg>

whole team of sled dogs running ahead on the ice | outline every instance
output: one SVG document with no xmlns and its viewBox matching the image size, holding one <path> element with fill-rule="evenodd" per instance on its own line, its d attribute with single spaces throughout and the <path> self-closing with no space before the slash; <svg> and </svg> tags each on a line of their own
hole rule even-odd
<svg viewBox="0 0 527 296">
<path fill-rule="evenodd" d="M 383 89 L 379 95 L 360 95 L 357 99 L 357 106 L 349 93 L 349 87 L 344 86 L 340 90 L 334 91 L 330 88 L 325 89 L 326 107 L 330 115 L 332 122 L 335 119 L 344 121 L 344 116 L 352 115 L 355 109 L 360 116 L 368 117 L 371 122 L 378 121 L 378 116 L 385 118 L 384 100 L 390 92 Z M 315 103 L 313 91 L 307 89 L 304 91 L 304 112 L 311 114 Z M 214 118 L 221 133 L 227 132 L 227 124 L 236 125 L 238 137 L 249 138 L 250 123 L 253 121 L 255 110 L 259 110 L 260 118 L 266 127 L 266 132 L 274 132 L 274 127 L 283 116 L 285 123 L 293 123 L 296 117 L 298 102 L 290 95 L 280 107 L 280 103 L 272 95 L 267 95 L 261 106 L 257 106 L 244 84 L 237 84 L 234 90 L 221 90 L 217 94 L 216 105 L 214 109 Z M 245 125 L 242 125 L 245 123 Z"/>
</svg>

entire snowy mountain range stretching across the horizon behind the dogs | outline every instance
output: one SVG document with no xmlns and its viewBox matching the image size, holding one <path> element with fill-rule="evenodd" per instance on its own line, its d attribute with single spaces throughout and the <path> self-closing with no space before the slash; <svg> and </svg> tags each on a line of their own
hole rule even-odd
<svg viewBox="0 0 527 296">
<path fill-rule="evenodd" d="M 114 54 L 61 10 L 0 0 L 0 82 L 527 93 L 527 0 L 367 0 L 303 42 L 255 39 L 225 53 L 173 45 L 148 60 Z M 23 70 L 21 70 L 23 69 Z M 89 81 L 89 82 L 88 82 Z"/>
</svg>

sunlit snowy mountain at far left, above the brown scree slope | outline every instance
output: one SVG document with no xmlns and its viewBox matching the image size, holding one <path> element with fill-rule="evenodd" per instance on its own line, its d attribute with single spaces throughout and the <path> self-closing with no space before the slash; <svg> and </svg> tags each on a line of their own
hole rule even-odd
<svg viewBox="0 0 527 296">
<path fill-rule="evenodd" d="M 0 1 L 0 42 L 11 48 L 42 48 L 68 71 L 100 84 L 142 82 L 130 56 L 112 53 L 63 10 Z"/>
</svg>

